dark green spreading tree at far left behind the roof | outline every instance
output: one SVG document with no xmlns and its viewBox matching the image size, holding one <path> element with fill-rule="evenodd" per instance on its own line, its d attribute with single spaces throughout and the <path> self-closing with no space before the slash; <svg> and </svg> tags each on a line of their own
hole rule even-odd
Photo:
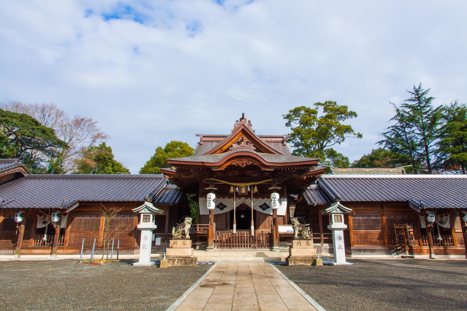
<svg viewBox="0 0 467 311">
<path fill-rule="evenodd" d="M 55 172 L 49 159 L 60 162 L 58 150 L 68 148 L 55 131 L 25 113 L 0 109 L 0 157 L 21 158 L 31 173 Z"/>
</svg>

